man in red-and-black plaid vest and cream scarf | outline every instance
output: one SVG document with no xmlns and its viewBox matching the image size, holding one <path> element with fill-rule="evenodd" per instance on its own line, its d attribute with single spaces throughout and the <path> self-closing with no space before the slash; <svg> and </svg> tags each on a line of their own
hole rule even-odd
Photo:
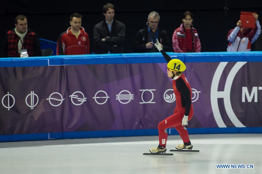
<svg viewBox="0 0 262 174">
<path fill-rule="evenodd" d="M 17 16 L 15 28 L 6 32 L 1 57 L 20 57 L 21 50 L 29 57 L 42 56 L 38 36 L 27 28 L 27 18 L 24 15 Z"/>
</svg>

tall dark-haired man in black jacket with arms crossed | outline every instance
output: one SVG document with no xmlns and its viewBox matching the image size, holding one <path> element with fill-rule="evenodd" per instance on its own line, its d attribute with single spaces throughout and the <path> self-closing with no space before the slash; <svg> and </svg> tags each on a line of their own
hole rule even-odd
<svg viewBox="0 0 262 174">
<path fill-rule="evenodd" d="M 104 20 L 94 26 L 95 53 L 124 53 L 125 24 L 114 20 L 113 4 L 104 5 L 102 12 Z"/>
</svg>

